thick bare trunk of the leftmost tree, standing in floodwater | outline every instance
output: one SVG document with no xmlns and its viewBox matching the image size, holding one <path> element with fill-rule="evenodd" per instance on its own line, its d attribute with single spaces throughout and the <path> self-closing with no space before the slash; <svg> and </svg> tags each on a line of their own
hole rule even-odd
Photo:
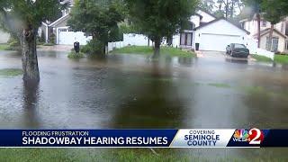
<svg viewBox="0 0 288 162">
<path fill-rule="evenodd" d="M 22 63 L 24 82 L 39 82 L 40 74 L 38 68 L 37 50 L 36 50 L 36 31 L 28 28 L 23 30 L 22 35 Z"/>
</svg>

